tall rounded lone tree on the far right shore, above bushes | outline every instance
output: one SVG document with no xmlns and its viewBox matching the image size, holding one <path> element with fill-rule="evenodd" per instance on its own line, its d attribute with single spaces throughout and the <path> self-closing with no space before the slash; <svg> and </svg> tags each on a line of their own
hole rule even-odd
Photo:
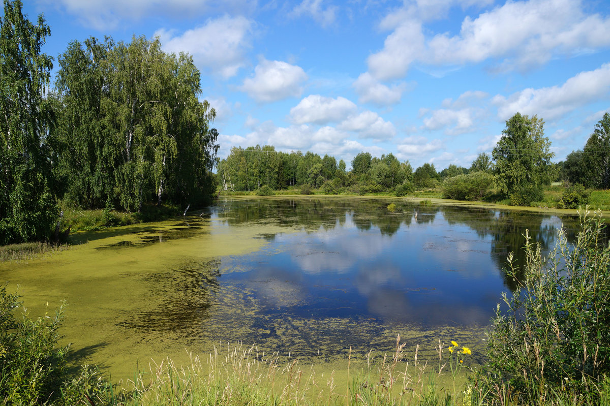
<svg viewBox="0 0 610 406">
<path fill-rule="evenodd" d="M 544 121 L 516 113 L 506 121 L 502 134 L 492 152 L 500 193 L 512 205 L 539 201 L 542 187 L 553 175 L 550 159 L 554 154 L 544 137 Z"/>
</svg>

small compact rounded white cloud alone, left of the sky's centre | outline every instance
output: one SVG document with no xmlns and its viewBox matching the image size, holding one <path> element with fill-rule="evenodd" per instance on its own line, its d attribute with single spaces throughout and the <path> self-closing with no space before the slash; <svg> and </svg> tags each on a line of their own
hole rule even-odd
<svg viewBox="0 0 610 406">
<path fill-rule="evenodd" d="M 300 66 L 279 60 L 262 60 L 254 68 L 254 77 L 243 81 L 240 90 L 259 102 L 272 102 L 289 97 L 298 97 L 307 80 L 307 74 Z"/>
</svg>

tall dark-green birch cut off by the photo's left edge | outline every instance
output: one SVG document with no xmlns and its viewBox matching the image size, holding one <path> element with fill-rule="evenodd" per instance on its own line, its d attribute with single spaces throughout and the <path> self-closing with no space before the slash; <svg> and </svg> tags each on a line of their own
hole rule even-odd
<svg viewBox="0 0 610 406">
<path fill-rule="evenodd" d="M 53 65 L 40 52 L 51 29 L 21 8 L 5 0 L 0 19 L 0 244 L 48 239 L 59 215 L 46 142 L 53 118 L 43 99 Z"/>
</svg>

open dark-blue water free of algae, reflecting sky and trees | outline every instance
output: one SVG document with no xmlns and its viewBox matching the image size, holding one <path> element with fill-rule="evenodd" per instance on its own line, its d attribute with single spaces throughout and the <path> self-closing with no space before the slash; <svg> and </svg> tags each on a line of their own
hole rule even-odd
<svg viewBox="0 0 610 406">
<path fill-rule="evenodd" d="M 348 318 L 410 324 L 486 326 L 501 292 L 501 268 L 522 234 L 553 245 L 556 216 L 422 206 L 397 211 L 372 199 L 273 199 L 218 206 L 219 227 L 274 221 L 296 233 L 265 235 L 266 248 L 222 258 L 221 285 L 248 290 L 267 319 Z M 417 217 L 415 212 L 417 211 Z"/>
</svg>

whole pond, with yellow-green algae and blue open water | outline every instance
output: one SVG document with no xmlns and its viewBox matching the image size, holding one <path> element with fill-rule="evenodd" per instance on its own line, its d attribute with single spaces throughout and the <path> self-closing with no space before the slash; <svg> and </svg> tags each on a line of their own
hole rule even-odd
<svg viewBox="0 0 610 406">
<path fill-rule="evenodd" d="M 115 378 L 218 343 L 335 365 L 350 347 L 391 351 L 399 333 L 423 357 L 440 339 L 482 360 L 484 329 L 515 286 L 509 252 L 522 265 L 526 229 L 548 251 L 577 223 L 408 199 L 223 198 L 174 221 L 79 233 L 68 251 L 1 264 L 0 277 L 32 314 L 66 301 L 74 362 Z"/>
</svg>

